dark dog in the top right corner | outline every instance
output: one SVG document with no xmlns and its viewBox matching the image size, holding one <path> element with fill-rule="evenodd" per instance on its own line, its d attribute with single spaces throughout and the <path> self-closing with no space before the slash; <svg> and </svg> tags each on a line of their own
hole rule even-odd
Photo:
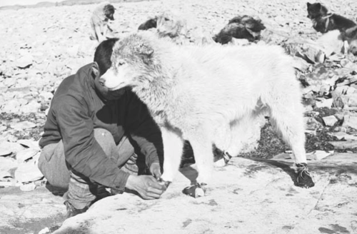
<svg viewBox="0 0 357 234">
<path fill-rule="evenodd" d="M 343 32 L 356 26 L 356 23 L 351 19 L 340 16 L 338 14 L 328 13 L 326 6 L 320 3 L 307 3 L 308 18 L 313 22 L 313 29 L 322 34 L 328 31 L 336 30 Z"/>
</svg>

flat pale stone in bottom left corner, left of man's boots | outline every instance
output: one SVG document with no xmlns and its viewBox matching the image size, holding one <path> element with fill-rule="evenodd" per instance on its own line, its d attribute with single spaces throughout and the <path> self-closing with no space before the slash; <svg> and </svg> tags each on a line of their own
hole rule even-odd
<svg viewBox="0 0 357 234">
<path fill-rule="evenodd" d="M 29 192 L 19 187 L 1 188 L 0 233 L 37 234 L 44 228 L 61 225 L 66 215 L 63 191 L 49 187 L 42 185 Z"/>
</svg>

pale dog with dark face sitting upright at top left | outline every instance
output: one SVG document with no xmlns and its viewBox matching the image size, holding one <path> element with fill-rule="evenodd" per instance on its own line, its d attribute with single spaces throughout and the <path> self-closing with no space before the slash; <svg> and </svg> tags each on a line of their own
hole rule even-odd
<svg viewBox="0 0 357 234">
<path fill-rule="evenodd" d="M 108 31 L 113 31 L 108 21 L 114 20 L 115 8 L 109 1 L 101 2 L 91 16 L 91 39 L 99 42 L 107 39 Z"/>
</svg>

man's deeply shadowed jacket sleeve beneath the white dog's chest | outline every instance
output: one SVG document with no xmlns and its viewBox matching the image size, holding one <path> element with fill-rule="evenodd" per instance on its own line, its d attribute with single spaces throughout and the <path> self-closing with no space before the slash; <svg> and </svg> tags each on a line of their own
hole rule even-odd
<svg viewBox="0 0 357 234">
<path fill-rule="evenodd" d="M 151 117 L 146 105 L 131 91 L 128 91 L 128 96 L 126 131 L 146 157 L 146 166 L 160 163 L 162 167 L 164 148 L 160 128 Z"/>
</svg>

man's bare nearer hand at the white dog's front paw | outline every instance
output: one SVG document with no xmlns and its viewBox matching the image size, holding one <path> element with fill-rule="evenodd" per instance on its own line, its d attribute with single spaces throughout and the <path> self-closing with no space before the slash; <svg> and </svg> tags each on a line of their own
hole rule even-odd
<svg viewBox="0 0 357 234">
<path fill-rule="evenodd" d="M 160 198 L 166 190 L 152 175 L 129 175 L 126 188 L 136 190 L 146 200 Z"/>
</svg>

